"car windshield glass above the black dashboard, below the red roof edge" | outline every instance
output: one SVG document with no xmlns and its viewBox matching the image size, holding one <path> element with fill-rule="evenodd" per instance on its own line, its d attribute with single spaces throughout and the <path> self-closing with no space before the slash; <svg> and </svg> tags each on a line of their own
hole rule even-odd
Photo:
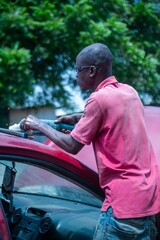
<svg viewBox="0 0 160 240">
<path fill-rule="evenodd" d="M 0 186 L 2 188 L 6 165 L 12 168 L 12 162 L 0 161 Z M 101 201 L 81 187 L 71 183 L 45 169 L 24 163 L 15 164 L 14 193 L 26 193 L 71 200 L 97 207 Z"/>
</svg>

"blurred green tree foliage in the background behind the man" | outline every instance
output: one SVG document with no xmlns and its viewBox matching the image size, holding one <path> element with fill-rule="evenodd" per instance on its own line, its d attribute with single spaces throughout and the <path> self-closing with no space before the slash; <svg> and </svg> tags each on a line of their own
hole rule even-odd
<svg viewBox="0 0 160 240">
<path fill-rule="evenodd" d="M 159 105 L 159 14 L 158 1 L 1 0 L 1 105 L 24 104 L 38 84 L 37 104 L 45 98 L 69 106 L 65 86 L 74 86 L 75 74 L 68 70 L 94 42 L 111 49 L 119 81 L 135 87 L 144 104 Z"/>
</svg>

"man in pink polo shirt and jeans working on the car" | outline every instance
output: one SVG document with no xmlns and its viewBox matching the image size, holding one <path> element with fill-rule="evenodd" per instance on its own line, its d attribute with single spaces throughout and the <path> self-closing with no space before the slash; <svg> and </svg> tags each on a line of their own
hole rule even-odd
<svg viewBox="0 0 160 240">
<path fill-rule="evenodd" d="M 112 54 L 96 43 L 77 56 L 77 84 L 92 90 L 83 115 L 61 117 L 76 124 L 57 132 L 29 115 L 24 128 L 43 132 L 72 154 L 93 143 L 100 186 L 105 192 L 94 240 L 154 240 L 160 211 L 160 176 L 137 92 L 112 76 Z"/>
</svg>

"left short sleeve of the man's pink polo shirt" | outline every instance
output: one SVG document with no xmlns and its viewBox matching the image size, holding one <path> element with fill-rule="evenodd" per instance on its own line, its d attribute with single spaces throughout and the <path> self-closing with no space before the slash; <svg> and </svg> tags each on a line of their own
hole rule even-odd
<svg viewBox="0 0 160 240">
<path fill-rule="evenodd" d="M 102 125 L 102 113 L 94 98 L 89 98 L 76 127 L 71 132 L 71 136 L 82 144 L 90 144 L 98 135 Z"/>
</svg>

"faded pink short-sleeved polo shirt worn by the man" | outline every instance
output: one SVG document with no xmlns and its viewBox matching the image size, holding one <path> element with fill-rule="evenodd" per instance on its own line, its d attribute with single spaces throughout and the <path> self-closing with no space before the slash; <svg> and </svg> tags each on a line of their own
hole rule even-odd
<svg viewBox="0 0 160 240">
<path fill-rule="evenodd" d="M 90 95 L 71 132 L 83 144 L 93 142 L 100 186 L 106 196 L 101 210 L 111 206 L 117 218 L 160 211 L 159 167 L 143 111 L 137 92 L 111 76 Z"/>
</svg>

